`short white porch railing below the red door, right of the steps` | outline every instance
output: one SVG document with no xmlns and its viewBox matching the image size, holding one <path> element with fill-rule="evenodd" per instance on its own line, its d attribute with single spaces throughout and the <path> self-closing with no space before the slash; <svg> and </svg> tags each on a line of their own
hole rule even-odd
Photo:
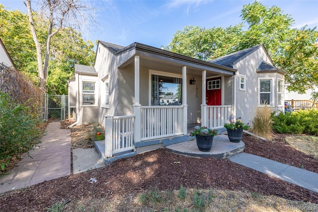
<svg viewBox="0 0 318 212">
<path fill-rule="evenodd" d="M 207 127 L 221 128 L 230 121 L 231 106 L 205 106 Z"/>
</svg>

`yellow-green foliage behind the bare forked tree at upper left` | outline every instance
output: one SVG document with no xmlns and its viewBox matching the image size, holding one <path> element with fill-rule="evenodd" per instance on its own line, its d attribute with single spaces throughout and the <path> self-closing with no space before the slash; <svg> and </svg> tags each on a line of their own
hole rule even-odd
<svg viewBox="0 0 318 212">
<path fill-rule="evenodd" d="M 34 15 L 37 35 L 45 42 L 48 20 Z M 35 44 L 29 29 L 27 14 L 9 11 L 0 5 L 0 37 L 16 68 L 39 85 Z M 73 77 L 74 64 L 93 65 L 95 52 L 91 41 L 84 41 L 75 29 L 63 27 L 51 39 L 48 65 L 47 92 L 67 94 L 67 80 Z"/>
</svg>

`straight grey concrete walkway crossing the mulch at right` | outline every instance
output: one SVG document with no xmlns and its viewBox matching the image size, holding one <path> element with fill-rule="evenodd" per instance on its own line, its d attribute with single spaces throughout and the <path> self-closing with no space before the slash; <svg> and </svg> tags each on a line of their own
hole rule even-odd
<svg viewBox="0 0 318 212">
<path fill-rule="evenodd" d="M 318 193 L 318 174 L 256 155 L 239 153 L 232 162 Z"/>
</svg>

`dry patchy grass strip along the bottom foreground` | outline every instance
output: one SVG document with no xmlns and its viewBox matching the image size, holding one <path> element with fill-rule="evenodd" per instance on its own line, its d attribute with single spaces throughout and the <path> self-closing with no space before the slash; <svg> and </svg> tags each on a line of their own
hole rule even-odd
<svg viewBox="0 0 318 212">
<path fill-rule="evenodd" d="M 318 204 L 291 201 L 276 196 L 262 196 L 244 191 L 187 189 L 184 199 L 180 199 L 178 193 L 179 190 L 152 190 L 147 193 L 114 196 L 107 199 L 83 199 L 71 202 L 64 209 L 72 209 L 74 212 L 295 212 L 318 210 Z M 145 196 L 148 196 L 146 201 Z M 203 204 L 199 205 L 198 200 Z"/>
</svg>

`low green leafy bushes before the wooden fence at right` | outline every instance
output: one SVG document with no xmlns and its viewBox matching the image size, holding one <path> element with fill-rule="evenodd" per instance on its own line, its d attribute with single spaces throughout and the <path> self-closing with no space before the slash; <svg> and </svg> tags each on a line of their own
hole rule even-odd
<svg viewBox="0 0 318 212">
<path fill-rule="evenodd" d="M 272 129 L 279 133 L 318 135 L 318 110 L 306 109 L 272 116 Z"/>
</svg>

